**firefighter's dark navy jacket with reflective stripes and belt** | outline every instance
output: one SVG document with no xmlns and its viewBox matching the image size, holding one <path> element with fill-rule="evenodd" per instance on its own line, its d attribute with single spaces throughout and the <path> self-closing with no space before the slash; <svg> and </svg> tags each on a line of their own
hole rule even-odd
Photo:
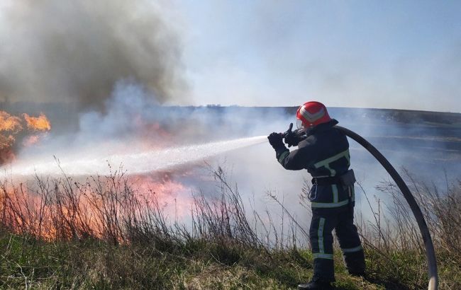
<svg viewBox="0 0 461 290">
<path fill-rule="evenodd" d="M 349 169 L 349 142 L 343 132 L 333 127 L 335 124 L 338 121 L 331 120 L 307 129 L 307 138 L 299 142 L 296 150 L 290 152 L 285 147 L 276 150 L 277 160 L 285 169 L 307 169 L 311 173 L 314 179 L 309 199 L 313 208 L 343 207 L 349 203 L 349 191 L 340 182 L 316 185 L 314 181 L 339 177 Z M 351 193 L 353 202 L 353 188 Z"/>
</svg>

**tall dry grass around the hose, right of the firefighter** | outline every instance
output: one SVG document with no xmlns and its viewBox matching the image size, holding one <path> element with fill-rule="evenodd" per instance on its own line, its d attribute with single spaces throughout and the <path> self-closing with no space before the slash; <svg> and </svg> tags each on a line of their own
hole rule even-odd
<svg viewBox="0 0 461 290">
<path fill-rule="evenodd" d="M 461 180 L 445 180 L 440 192 L 435 184 L 416 180 L 409 171 L 404 177 L 426 219 L 438 260 L 440 289 L 461 289 Z M 358 228 L 367 249 L 372 279 L 404 282 L 410 289 L 425 288 L 427 263 L 423 240 L 409 205 L 393 182 L 382 182 L 374 197 L 373 219 L 358 215 Z"/>
</svg>

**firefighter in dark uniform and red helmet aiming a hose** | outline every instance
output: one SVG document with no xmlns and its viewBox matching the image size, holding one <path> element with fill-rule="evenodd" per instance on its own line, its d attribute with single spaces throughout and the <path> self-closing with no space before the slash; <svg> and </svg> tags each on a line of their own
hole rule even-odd
<svg viewBox="0 0 461 290">
<path fill-rule="evenodd" d="M 322 103 L 304 103 L 296 112 L 296 119 L 298 127 L 306 132 L 304 137 L 294 132 L 285 136 L 274 132 L 267 139 L 285 169 L 307 169 L 313 178 L 308 196 L 312 210 L 309 236 L 313 277 L 309 283 L 299 284 L 298 289 L 331 289 L 335 281 L 333 229 L 348 272 L 365 274 L 365 255 L 353 223 L 355 177 L 349 169 L 349 143 L 345 134 L 334 127 L 338 121 L 331 119 Z M 288 146 L 298 149 L 290 152 L 283 138 Z"/>
</svg>

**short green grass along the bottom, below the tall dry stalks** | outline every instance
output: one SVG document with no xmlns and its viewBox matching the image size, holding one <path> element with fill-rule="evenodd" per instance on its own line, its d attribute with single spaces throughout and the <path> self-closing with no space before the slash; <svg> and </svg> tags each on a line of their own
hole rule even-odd
<svg viewBox="0 0 461 290">
<path fill-rule="evenodd" d="M 160 247 L 99 240 L 45 243 L 7 233 L 0 243 L 4 289 L 296 289 L 312 274 L 309 250 L 293 248 L 266 253 L 199 242 Z M 373 250 L 367 250 L 370 277 L 350 277 L 336 253 L 339 289 L 423 288 L 424 273 L 379 269 L 373 260 L 380 257 Z M 401 257 L 396 253 L 394 260 Z M 423 277 L 415 282 L 413 274 Z"/>
</svg>

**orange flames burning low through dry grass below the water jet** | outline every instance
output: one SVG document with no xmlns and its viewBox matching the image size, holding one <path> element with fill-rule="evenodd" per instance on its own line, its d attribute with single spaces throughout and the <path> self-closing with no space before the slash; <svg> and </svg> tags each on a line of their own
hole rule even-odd
<svg viewBox="0 0 461 290">
<path fill-rule="evenodd" d="M 127 214 L 142 219 L 146 210 L 158 209 L 172 220 L 182 219 L 191 209 L 192 199 L 181 195 L 187 189 L 167 174 L 128 180 L 121 173 L 84 182 L 72 180 L 68 186 L 52 180 L 53 189 L 0 182 L 0 224 L 45 240 L 91 236 L 128 243 L 120 227 Z"/>
</svg>

